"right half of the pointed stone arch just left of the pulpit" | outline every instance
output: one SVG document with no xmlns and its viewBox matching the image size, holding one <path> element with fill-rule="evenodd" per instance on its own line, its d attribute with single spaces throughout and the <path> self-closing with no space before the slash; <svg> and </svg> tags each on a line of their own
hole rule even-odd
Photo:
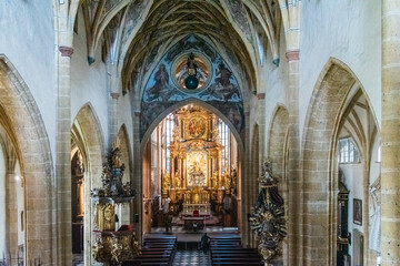
<svg viewBox="0 0 400 266">
<path fill-rule="evenodd" d="M 101 187 L 101 173 L 104 158 L 104 140 L 99 119 L 90 103 L 78 112 L 71 129 L 71 139 L 83 157 L 84 173 L 84 262 L 92 263 L 92 205 L 90 192 Z"/>
</svg>

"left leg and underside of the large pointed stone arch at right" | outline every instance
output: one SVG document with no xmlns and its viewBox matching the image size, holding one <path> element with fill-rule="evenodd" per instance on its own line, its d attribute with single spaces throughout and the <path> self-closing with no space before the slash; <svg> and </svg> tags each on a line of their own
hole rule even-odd
<svg viewBox="0 0 400 266">
<path fill-rule="evenodd" d="M 336 263 L 336 144 L 346 100 L 357 82 L 349 66 L 330 59 L 318 79 L 308 108 L 302 140 L 301 192 L 304 202 L 304 265 Z"/>
</svg>

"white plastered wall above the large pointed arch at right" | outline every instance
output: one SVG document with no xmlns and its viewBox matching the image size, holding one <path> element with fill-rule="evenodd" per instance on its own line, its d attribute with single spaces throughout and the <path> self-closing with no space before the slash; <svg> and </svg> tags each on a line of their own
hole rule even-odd
<svg viewBox="0 0 400 266">
<path fill-rule="evenodd" d="M 331 57 L 344 62 L 357 75 L 380 127 L 380 1 L 302 1 L 300 34 L 300 134 L 317 79 Z"/>
</svg>

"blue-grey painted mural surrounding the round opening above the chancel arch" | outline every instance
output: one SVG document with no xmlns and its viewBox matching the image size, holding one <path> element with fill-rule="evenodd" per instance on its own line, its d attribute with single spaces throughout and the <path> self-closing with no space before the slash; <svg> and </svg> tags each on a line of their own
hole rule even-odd
<svg viewBox="0 0 400 266">
<path fill-rule="evenodd" d="M 171 72 L 176 58 L 187 51 L 203 54 L 212 65 L 212 70 L 210 70 L 211 82 L 201 89 L 190 92 L 179 88 L 172 81 L 174 74 Z M 243 100 L 238 81 L 226 61 L 210 45 L 194 35 L 187 37 L 176 43 L 151 73 L 141 102 L 141 139 L 150 124 L 166 109 L 188 99 L 197 99 L 218 109 L 232 123 L 243 140 Z"/>
</svg>

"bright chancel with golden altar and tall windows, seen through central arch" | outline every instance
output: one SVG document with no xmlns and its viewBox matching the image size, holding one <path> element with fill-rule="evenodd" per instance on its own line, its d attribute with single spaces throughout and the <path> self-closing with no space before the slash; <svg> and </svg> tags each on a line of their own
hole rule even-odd
<svg viewBox="0 0 400 266">
<path fill-rule="evenodd" d="M 242 143 L 227 117 L 217 113 L 202 102 L 184 101 L 146 133 L 143 233 L 150 233 L 151 225 L 164 227 L 171 217 L 174 225 L 193 229 L 188 222 L 193 215 L 204 217 L 204 224 L 238 226 Z"/>
</svg>

